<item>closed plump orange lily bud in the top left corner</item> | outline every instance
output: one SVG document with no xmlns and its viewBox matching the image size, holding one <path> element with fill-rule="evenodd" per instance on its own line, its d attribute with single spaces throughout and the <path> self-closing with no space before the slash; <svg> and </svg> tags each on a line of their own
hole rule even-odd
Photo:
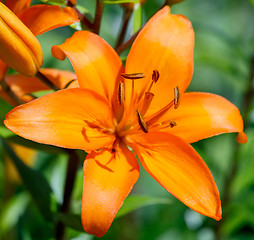
<svg viewBox="0 0 254 240">
<path fill-rule="evenodd" d="M 34 76 L 43 61 L 33 33 L 0 2 L 0 59 L 25 76 Z"/>
</svg>

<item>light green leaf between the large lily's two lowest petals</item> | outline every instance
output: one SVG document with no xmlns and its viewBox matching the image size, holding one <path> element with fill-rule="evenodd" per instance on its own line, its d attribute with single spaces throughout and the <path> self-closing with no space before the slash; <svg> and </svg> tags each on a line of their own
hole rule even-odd
<svg viewBox="0 0 254 240">
<path fill-rule="evenodd" d="M 118 211 L 116 218 L 122 217 L 139 208 L 155 205 L 155 204 L 170 204 L 168 198 L 155 198 L 151 196 L 129 196 L 125 199 L 123 206 Z"/>
</svg>

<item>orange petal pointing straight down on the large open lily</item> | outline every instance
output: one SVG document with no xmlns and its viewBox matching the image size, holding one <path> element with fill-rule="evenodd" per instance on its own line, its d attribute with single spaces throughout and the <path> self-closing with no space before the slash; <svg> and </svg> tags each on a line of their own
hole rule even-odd
<svg viewBox="0 0 254 240">
<path fill-rule="evenodd" d="M 116 151 L 91 152 L 84 162 L 81 220 L 97 237 L 109 229 L 139 176 L 138 161 L 124 145 Z"/>
</svg>

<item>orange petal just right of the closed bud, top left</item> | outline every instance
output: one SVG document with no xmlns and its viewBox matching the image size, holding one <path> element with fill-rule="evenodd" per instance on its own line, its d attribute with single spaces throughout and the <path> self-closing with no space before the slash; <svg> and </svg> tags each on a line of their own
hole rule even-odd
<svg viewBox="0 0 254 240">
<path fill-rule="evenodd" d="M 34 35 L 79 21 L 73 8 L 61 8 L 56 5 L 32 6 L 23 11 L 19 18 Z"/>
</svg>

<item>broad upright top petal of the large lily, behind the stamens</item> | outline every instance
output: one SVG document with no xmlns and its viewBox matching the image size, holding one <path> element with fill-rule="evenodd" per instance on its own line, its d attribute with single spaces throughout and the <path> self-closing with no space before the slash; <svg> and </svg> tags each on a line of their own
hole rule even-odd
<svg viewBox="0 0 254 240">
<path fill-rule="evenodd" d="M 156 13 L 141 30 L 127 57 L 126 73 L 144 73 L 144 79 L 135 80 L 135 93 L 141 97 L 152 82 L 153 70 L 159 72 L 147 114 L 173 100 L 176 86 L 181 93 L 188 87 L 193 72 L 193 48 L 191 23 L 184 16 L 171 14 L 169 7 Z M 126 85 L 128 94 L 131 84 Z"/>
</svg>

